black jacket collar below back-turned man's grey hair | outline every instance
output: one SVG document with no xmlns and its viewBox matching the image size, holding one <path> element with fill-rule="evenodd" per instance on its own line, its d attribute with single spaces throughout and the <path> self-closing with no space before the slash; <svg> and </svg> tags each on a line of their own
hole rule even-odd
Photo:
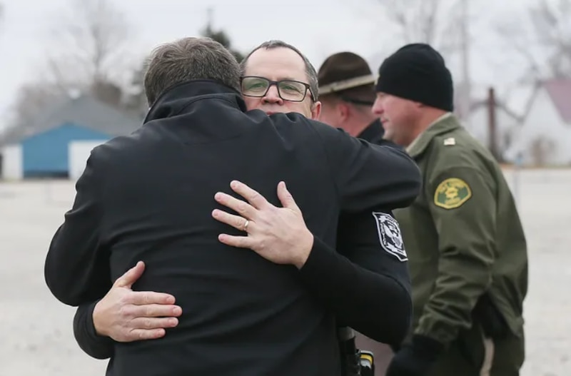
<svg viewBox="0 0 571 376">
<path fill-rule="evenodd" d="M 230 86 L 213 80 L 193 80 L 173 86 L 158 97 L 143 123 L 179 115 L 191 103 L 205 97 L 226 98 L 235 103 L 236 108 L 246 112 L 246 103 L 241 94 Z"/>
</svg>

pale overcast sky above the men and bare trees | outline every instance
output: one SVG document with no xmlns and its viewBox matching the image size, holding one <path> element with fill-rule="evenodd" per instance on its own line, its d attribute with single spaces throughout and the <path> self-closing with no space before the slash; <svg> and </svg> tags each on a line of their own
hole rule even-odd
<svg viewBox="0 0 571 376">
<path fill-rule="evenodd" d="M 241 51 L 268 39 L 283 39 L 307 54 L 315 68 L 329 55 L 353 51 L 378 68 L 386 51 L 402 44 L 398 29 L 385 19 L 383 0 L 289 0 L 278 4 L 256 0 L 114 0 L 132 24 L 129 48 L 133 56 L 181 36 L 197 35 L 214 11 L 214 26 L 225 29 Z M 403 3 L 405 2 L 402 0 Z M 446 2 L 445 0 L 443 0 Z M 492 25 L 500 17 L 522 11 L 534 0 L 470 1 L 473 19 L 470 71 L 478 88 L 515 80 L 505 45 Z M 61 22 L 69 0 L 0 0 L 0 128 L 15 93 L 26 80 L 41 72 L 46 49 L 58 46 L 49 33 Z M 137 58 L 133 58 L 137 59 Z M 505 60 L 502 62 L 502 60 Z M 374 65 L 374 66 L 373 66 Z M 451 65 L 454 65 L 451 62 Z M 458 68 L 458 64 L 453 67 Z M 460 77 L 457 77 L 457 80 Z"/>
</svg>

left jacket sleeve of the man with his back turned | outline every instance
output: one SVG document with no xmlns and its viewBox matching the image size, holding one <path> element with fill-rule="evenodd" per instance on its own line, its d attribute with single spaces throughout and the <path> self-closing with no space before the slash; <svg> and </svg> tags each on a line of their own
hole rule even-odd
<svg viewBox="0 0 571 376">
<path fill-rule="evenodd" d="M 51 240 L 44 276 L 51 293 L 66 305 L 101 298 L 111 287 L 109 255 L 101 245 L 101 167 L 95 151 L 76 183 L 74 205 Z"/>
</svg>

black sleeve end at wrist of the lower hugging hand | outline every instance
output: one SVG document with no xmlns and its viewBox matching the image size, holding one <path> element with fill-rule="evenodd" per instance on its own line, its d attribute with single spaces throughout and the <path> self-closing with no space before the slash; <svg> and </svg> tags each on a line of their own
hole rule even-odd
<svg viewBox="0 0 571 376">
<path fill-rule="evenodd" d="M 98 300 L 79 305 L 74 316 L 74 336 L 81 350 L 87 355 L 96 359 L 107 359 L 113 355 L 115 341 L 98 335 L 95 331 L 93 315 L 97 302 Z"/>
</svg>

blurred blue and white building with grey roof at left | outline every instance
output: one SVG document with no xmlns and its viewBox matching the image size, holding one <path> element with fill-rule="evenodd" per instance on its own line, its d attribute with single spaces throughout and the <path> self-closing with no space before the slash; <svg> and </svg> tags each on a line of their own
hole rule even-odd
<svg viewBox="0 0 571 376">
<path fill-rule="evenodd" d="M 95 146 L 141 123 L 91 96 L 71 98 L 0 139 L 1 177 L 77 179 Z"/>
</svg>

